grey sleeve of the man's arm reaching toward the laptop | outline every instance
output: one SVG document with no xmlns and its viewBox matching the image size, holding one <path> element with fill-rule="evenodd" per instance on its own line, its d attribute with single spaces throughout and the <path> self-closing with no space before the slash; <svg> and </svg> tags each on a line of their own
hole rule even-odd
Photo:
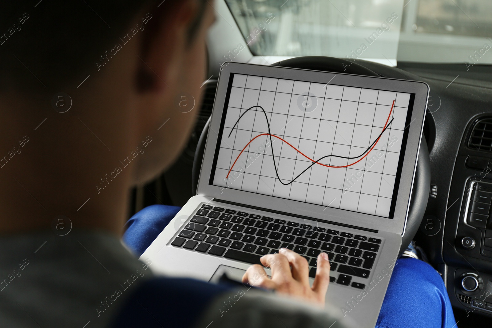
<svg viewBox="0 0 492 328">
<path fill-rule="evenodd" d="M 338 311 L 339 312 L 339 311 Z M 319 309 L 306 302 L 276 296 L 253 288 L 238 287 L 237 292 L 221 294 L 204 311 L 195 328 L 350 328 L 327 305 Z"/>
</svg>

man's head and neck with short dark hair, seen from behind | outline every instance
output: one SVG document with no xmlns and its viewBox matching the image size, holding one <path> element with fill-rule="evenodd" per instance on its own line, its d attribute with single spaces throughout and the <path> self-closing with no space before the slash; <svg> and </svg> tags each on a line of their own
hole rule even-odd
<svg viewBox="0 0 492 328">
<path fill-rule="evenodd" d="M 61 214 L 116 232 L 128 186 L 172 163 L 191 131 L 213 2 L 9 2 L 0 5 L 0 213 L 12 220 L 0 231 L 48 228 Z M 195 107 L 184 113 L 180 101 Z"/>
</svg>

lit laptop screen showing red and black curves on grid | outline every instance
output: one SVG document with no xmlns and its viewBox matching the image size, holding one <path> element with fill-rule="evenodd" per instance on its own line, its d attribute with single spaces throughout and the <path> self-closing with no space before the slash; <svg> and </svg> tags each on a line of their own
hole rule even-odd
<svg viewBox="0 0 492 328">
<path fill-rule="evenodd" d="M 393 218 L 414 98 L 231 74 L 209 183 Z"/>
</svg>

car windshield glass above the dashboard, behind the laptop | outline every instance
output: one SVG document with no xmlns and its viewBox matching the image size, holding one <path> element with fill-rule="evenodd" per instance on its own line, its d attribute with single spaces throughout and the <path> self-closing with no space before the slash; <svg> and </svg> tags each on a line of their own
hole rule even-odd
<svg viewBox="0 0 492 328">
<path fill-rule="evenodd" d="M 226 0 L 257 56 L 491 64 L 490 0 Z"/>
</svg>

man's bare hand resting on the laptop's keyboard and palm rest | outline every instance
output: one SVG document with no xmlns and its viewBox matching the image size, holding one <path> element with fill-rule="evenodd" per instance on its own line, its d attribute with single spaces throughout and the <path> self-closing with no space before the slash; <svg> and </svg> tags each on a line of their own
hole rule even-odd
<svg viewBox="0 0 492 328">
<path fill-rule="evenodd" d="M 318 255 L 316 277 L 312 288 L 309 286 L 308 264 L 304 257 L 287 249 L 280 248 L 278 254 L 261 257 L 261 263 L 270 268 L 270 279 L 259 264 L 252 265 L 243 275 L 243 283 L 265 289 L 273 289 L 280 294 L 301 298 L 324 306 L 326 291 L 330 283 L 330 262 L 326 253 Z"/>
</svg>

